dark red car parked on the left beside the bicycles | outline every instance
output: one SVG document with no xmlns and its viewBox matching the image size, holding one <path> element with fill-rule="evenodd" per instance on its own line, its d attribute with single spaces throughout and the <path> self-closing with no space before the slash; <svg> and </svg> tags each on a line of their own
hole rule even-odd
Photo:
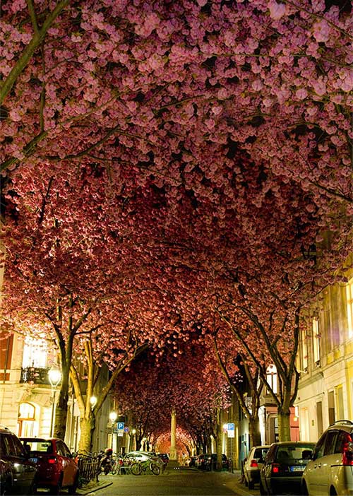
<svg viewBox="0 0 353 496">
<path fill-rule="evenodd" d="M 73 495 L 78 487 L 78 465 L 71 451 L 61 439 L 21 437 L 30 460 L 37 466 L 35 485 L 49 489 L 58 495 L 61 488 L 67 488 Z"/>
</svg>

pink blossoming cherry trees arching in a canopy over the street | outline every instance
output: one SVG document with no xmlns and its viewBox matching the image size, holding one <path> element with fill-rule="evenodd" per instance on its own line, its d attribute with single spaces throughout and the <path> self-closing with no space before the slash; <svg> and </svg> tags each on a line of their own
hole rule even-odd
<svg viewBox="0 0 353 496">
<path fill-rule="evenodd" d="M 0 325 L 58 348 L 56 435 L 69 380 L 88 449 L 136 356 L 180 363 L 210 340 L 228 382 L 228 357 L 243 357 L 253 401 L 276 365 L 289 436 L 301 316 L 344 280 L 352 247 L 349 12 L 305 0 L 1 6 Z M 112 375 L 92 412 L 102 364 Z"/>
</svg>

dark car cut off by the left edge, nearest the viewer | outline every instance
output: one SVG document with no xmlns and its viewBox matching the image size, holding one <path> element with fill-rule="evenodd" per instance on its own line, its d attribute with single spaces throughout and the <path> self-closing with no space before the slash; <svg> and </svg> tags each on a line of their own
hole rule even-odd
<svg viewBox="0 0 353 496">
<path fill-rule="evenodd" d="M 35 492 L 35 464 L 20 439 L 0 426 L 0 494 L 31 495 Z"/>
</svg>

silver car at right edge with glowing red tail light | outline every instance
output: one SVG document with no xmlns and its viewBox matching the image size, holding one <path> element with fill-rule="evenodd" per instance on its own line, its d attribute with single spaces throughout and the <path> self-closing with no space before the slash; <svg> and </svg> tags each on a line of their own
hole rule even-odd
<svg viewBox="0 0 353 496">
<path fill-rule="evenodd" d="M 325 430 L 301 483 L 304 495 L 353 495 L 352 420 L 337 420 Z"/>
</svg>

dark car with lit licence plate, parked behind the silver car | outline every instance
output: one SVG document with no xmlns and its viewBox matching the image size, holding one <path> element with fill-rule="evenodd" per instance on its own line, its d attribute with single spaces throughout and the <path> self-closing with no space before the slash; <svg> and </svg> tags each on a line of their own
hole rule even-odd
<svg viewBox="0 0 353 496">
<path fill-rule="evenodd" d="M 260 471 L 260 494 L 300 494 L 301 476 L 314 447 L 314 442 L 287 441 L 271 444 Z"/>
</svg>

